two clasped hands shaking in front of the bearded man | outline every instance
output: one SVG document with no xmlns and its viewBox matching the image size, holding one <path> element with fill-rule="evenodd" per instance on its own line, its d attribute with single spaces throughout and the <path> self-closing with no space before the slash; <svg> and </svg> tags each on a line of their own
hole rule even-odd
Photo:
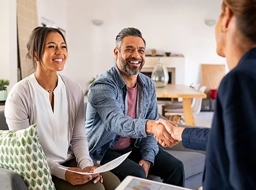
<svg viewBox="0 0 256 190">
<path fill-rule="evenodd" d="M 182 132 L 185 128 L 178 127 L 172 121 L 159 119 L 158 121 L 150 120 L 146 124 L 147 134 L 154 134 L 156 141 L 162 147 L 173 147 L 182 140 Z"/>
</svg>

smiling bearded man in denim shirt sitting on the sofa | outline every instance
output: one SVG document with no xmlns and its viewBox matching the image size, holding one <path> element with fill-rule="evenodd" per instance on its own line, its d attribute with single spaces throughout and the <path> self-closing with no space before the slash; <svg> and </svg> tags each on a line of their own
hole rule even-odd
<svg viewBox="0 0 256 190">
<path fill-rule="evenodd" d="M 159 119 L 153 81 L 140 73 L 145 40 L 136 28 L 125 28 L 115 39 L 116 64 L 89 87 L 86 134 L 90 156 L 105 164 L 131 151 L 111 170 L 122 181 L 127 175 L 160 176 L 164 183 L 184 186 L 182 162 L 159 148 L 153 134 L 175 144 Z M 161 137 L 160 137 L 161 136 Z"/>
</svg>

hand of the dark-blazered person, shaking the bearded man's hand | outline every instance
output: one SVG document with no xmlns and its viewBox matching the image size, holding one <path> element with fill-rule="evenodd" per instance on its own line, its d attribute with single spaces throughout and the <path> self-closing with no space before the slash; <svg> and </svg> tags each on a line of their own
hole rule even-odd
<svg viewBox="0 0 256 190">
<path fill-rule="evenodd" d="M 182 140 L 182 132 L 185 128 L 178 127 L 177 124 L 175 124 L 172 121 L 166 121 L 164 119 L 159 119 L 159 121 L 156 121 L 157 124 L 163 124 L 166 130 L 169 132 L 169 134 L 172 136 L 172 138 L 178 142 Z M 160 137 L 155 135 L 156 140 L 163 146 L 163 147 L 169 147 L 168 144 L 164 142 Z"/>
</svg>

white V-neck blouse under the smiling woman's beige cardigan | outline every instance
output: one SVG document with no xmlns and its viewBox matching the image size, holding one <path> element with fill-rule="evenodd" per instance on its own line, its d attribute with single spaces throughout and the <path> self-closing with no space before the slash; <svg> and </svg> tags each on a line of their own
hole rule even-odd
<svg viewBox="0 0 256 190">
<path fill-rule="evenodd" d="M 71 156 L 68 154 L 68 99 L 66 86 L 58 75 L 58 84 L 54 89 L 54 111 L 49 99 L 49 93 L 42 88 L 35 74 L 28 77 L 31 85 L 32 105 L 35 124 L 38 127 L 39 142 L 48 159 L 64 162 Z"/>
</svg>

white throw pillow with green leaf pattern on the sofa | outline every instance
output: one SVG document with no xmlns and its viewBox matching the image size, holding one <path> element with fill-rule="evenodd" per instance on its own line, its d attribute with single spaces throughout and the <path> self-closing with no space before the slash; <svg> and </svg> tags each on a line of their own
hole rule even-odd
<svg viewBox="0 0 256 190">
<path fill-rule="evenodd" d="M 19 174 L 28 189 L 55 189 L 36 124 L 16 132 L 0 130 L 0 167 Z"/>
</svg>

